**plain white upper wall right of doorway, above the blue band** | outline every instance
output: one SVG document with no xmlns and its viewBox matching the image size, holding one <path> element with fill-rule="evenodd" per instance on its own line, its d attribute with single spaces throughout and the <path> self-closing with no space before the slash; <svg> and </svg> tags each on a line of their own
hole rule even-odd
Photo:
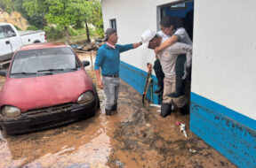
<svg viewBox="0 0 256 168">
<path fill-rule="evenodd" d="M 256 1 L 197 0 L 191 91 L 256 119 Z"/>
</svg>

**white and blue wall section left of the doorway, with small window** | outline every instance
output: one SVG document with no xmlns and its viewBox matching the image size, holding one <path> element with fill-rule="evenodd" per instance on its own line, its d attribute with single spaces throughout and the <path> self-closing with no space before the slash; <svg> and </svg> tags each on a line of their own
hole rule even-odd
<svg viewBox="0 0 256 168">
<path fill-rule="evenodd" d="M 110 27 L 109 19 L 116 19 L 119 44 L 140 42 L 140 36 L 145 30 L 156 31 L 159 25 L 156 6 L 169 4 L 172 1 L 174 0 L 101 0 L 104 29 Z M 120 64 L 122 80 L 142 94 L 147 76 L 147 63 L 153 65 L 155 59 L 154 51 L 148 49 L 138 48 L 122 53 Z M 153 90 L 156 88 L 156 76 L 153 71 Z M 150 95 L 148 93 L 148 99 L 151 99 Z M 157 95 L 153 95 L 154 103 L 159 103 L 160 99 Z"/>
</svg>

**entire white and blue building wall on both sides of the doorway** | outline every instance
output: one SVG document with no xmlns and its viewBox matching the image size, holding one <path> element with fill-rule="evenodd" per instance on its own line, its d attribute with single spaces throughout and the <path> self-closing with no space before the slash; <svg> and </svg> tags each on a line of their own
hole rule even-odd
<svg viewBox="0 0 256 168">
<path fill-rule="evenodd" d="M 101 2 L 105 29 L 116 19 L 124 44 L 140 42 L 148 28 L 156 30 L 157 6 L 174 1 Z M 194 5 L 190 129 L 237 166 L 256 167 L 256 1 L 195 0 Z M 121 57 L 122 79 L 141 93 L 153 50 Z"/>
</svg>

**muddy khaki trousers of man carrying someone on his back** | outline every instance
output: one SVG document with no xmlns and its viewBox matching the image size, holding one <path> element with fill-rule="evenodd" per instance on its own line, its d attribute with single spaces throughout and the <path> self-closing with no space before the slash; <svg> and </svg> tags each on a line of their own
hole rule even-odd
<svg viewBox="0 0 256 168">
<path fill-rule="evenodd" d="M 177 107 L 183 107 L 187 100 L 184 95 L 181 95 L 177 98 L 170 98 L 167 95 L 175 91 L 176 88 L 176 77 L 166 78 L 164 77 L 164 94 L 163 94 L 163 103 L 170 103 L 176 105 Z"/>
</svg>

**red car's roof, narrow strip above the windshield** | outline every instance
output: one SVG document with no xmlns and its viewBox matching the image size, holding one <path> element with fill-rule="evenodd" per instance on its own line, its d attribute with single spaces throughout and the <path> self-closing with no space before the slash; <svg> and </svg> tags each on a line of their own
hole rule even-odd
<svg viewBox="0 0 256 168">
<path fill-rule="evenodd" d="M 52 48 L 62 48 L 68 47 L 65 42 L 42 42 L 33 43 L 28 45 L 23 45 L 20 50 L 37 50 L 37 49 L 52 49 Z"/>
</svg>

